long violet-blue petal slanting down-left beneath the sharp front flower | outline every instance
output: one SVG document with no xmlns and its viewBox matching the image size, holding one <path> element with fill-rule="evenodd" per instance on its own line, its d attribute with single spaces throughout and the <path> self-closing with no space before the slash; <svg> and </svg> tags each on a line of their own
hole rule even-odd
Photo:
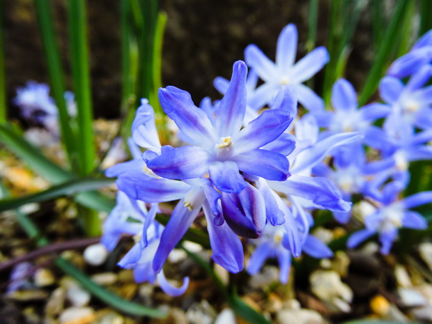
<svg viewBox="0 0 432 324">
<path fill-rule="evenodd" d="M 153 270 L 160 272 L 167 261 L 168 254 L 176 247 L 181 238 L 185 235 L 187 229 L 190 228 L 196 215 L 198 215 L 201 208 L 194 208 L 189 210 L 184 206 L 185 200 L 181 199 L 176 208 L 174 208 L 171 217 L 162 236 L 160 237 L 160 244 L 157 247 L 155 259 L 153 259 Z"/>
</svg>

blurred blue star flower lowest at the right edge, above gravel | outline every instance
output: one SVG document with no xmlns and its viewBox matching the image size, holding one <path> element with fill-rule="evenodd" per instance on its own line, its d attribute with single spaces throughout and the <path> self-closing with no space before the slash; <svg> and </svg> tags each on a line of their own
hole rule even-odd
<svg viewBox="0 0 432 324">
<path fill-rule="evenodd" d="M 408 229 L 426 229 L 426 219 L 419 213 L 410 210 L 425 203 L 432 202 L 432 192 L 419 192 L 404 199 L 397 199 L 400 187 L 389 183 L 383 188 L 380 201 L 374 201 L 376 210 L 364 217 L 366 229 L 353 233 L 348 239 L 349 248 L 357 247 L 370 236 L 378 233 L 381 242 L 381 253 L 388 254 L 401 227 Z"/>
</svg>

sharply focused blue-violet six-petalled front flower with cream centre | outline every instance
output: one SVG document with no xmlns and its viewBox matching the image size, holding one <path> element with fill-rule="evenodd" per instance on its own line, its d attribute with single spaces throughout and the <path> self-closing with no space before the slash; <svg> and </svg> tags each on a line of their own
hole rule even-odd
<svg viewBox="0 0 432 324">
<path fill-rule="evenodd" d="M 291 114 L 284 109 L 264 111 L 240 130 L 246 109 L 246 74 L 245 63 L 238 61 L 233 65 L 233 76 L 219 103 L 215 125 L 186 91 L 173 86 L 160 89 L 162 108 L 192 145 L 163 146 L 161 155 L 144 155 L 147 166 L 158 176 L 170 179 L 199 178 L 209 173 L 212 183 L 223 192 L 245 189 L 247 183 L 239 171 L 286 180 L 286 157 L 262 147 L 288 128 Z"/>
</svg>

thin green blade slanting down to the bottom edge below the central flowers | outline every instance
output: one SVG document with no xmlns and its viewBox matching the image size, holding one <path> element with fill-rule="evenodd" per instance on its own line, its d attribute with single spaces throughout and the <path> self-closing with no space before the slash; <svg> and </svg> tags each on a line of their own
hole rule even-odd
<svg viewBox="0 0 432 324">
<path fill-rule="evenodd" d="M 222 295 L 224 295 L 225 300 L 229 303 L 229 306 L 233 311 L 243 318 L 245 321 L 252 323 L 252 324 L 270 324 L 270 321 L 268 321 L 264 316 L 259 314 L 258 311 L 255 309 L 252 309 L 247 305 L 245 302 L 243 302 L 236 293 L 229 292 L 222 280 L 219 278 L 219 276 L 216 274 L 215 271 L 210 267 L 210 265 L 201 259 L 201 257 L 197 254 L 194 254 L 190 252 L 189 250 L 185 249 L 182 245 L 180 247 L 186 252 L 190 258 L 195 261 L 196 264 L 201 266 L 208 274 L 213 277 L 213 280 L 215 281 L 215 284 L 219 288 Z"/>
</svg>

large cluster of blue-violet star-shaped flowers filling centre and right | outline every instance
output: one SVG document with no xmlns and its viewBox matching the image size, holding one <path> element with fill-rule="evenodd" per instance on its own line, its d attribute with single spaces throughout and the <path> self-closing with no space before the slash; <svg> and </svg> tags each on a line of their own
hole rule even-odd
<svg viewBox="0 0 432 324">
<path fill-rule="evenodd" d="M 362 196 L 373 211 L 364 215 L 367 229 L 355 233 L 348 245 L 378 231 L 384 253 L 399 227 L 426 226 L 421 215 L 408 209 L 432 201 L 432 192 L 399 196 L 408 183 L 409 162 L 432 157 L 427 145 L 432 91 L 424 86 L 431 57 L 418 59 L 419 51 L 430 52 L 431 36 L 413 47 L 414 59 L 392 65 L 380 86 L 384 103 L 358 108 L 353 86 L 339 79 L 332 89 L 332 110 L 325 110 L 323 100 L 303 84 L 327 63 L 327 50 L 314 49 L 295 63 L 297 40 L 297 30 L 289 24 L 277 41 L 275 63 L 249 45 L 245 62 L 234 63 L 231 79 L 215 79 L 222 100 L 206 98 L 196 107 L 186 91 L 160 88 L 160 105 L 184 144 L 179 147 L 161 145 L 153 108 L 141 100 L 129 139 L 133 160 L 106 171 L 117 178 L 119 192 L 102 238 L 112 250 L 124 233 L 134 236 L 136 244 L 118 264 L 133 268 L 137 281 L 157 279 L 171 295 L 185 291 L 188 279 L 173 287 L 162 268 L 200 217 L 206 219 L 215 263 L 240 272 L 242 243 L 248 242 L 256 249 L 247 271 L 258 272 L 274 257 L 282 282 L 288 280 L 292 256 L 332 256 L 309 233 L 316 209 L 330 210 L 345 223 L 351 198 Z M 394 70 L 404 77 L 406 70 L 413 71 L 406 85 Z M 259 78 L 263 83 L 257 87 Z M 383 118 L 383 128 L 378 128 L 375 122 Z M 169 201 L 176 206 L 162 226 L 155 215 L 159 203 Z"/>
</svg>

